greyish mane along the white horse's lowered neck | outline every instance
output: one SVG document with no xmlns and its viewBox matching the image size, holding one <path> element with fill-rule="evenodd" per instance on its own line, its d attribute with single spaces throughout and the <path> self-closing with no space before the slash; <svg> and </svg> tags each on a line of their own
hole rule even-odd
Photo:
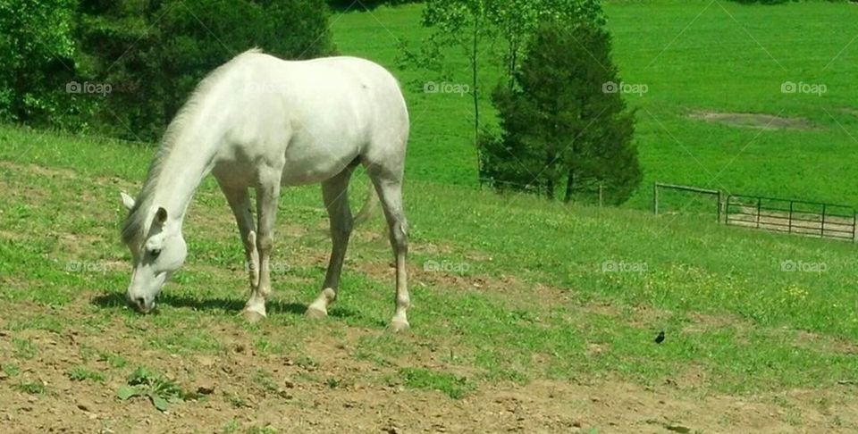
<svg viewBox="0 0 858 434">
<path fill-rule="evenodd" d="M 128 213 L 128 217 L 125 219 L 125 222 L 122 223 L 123 243 L 130 243 L 132 239 L 139 237 L 145 230 L 148 230 L 148 224 L 152 217 L 150 215 L 150 211 L 152 210 L 152 202 L 155 196 L 154 193 L 158 185 L 158 179 L 161 178 L 161 172 L 164 169 L 164 162 L 166 162 L 170 157 L 172 149 L 176 145 L 176 142 L 179 141 L 181 133 L 184 131 L 189 118 L 193 117 L 193 115 L 197 113 L 197 109 L 202 103 L 202 100 L 205 96 L 209 95 L 210 90 L 217 83 L 218 79 L 223 76 L 225 71 L 229 70 L 229 67 L 235 63 L 236 60 L 246 54 L 258 53 L 262 53 L 262 50 L 259 48 L 251 48 L 248 51 L 233 57 L 230 62 L 224 63 L 206 75 L 206 78 L 200 81 L 197 88 L 194 89 L 193 93 L 191 93 L 188 101 L 181 106 L 179 113 L 176 113 L 175 117 L 172 118 L 170 125 L 164 132 L 164 138 L 161 140 L 161 146 L 158 147 L 155 158 L 152 160 L 152 163 L 149 164 L 146 182 L 143 184 L 143 188 L 135 199 L 134 206 Z"/>
</svg>

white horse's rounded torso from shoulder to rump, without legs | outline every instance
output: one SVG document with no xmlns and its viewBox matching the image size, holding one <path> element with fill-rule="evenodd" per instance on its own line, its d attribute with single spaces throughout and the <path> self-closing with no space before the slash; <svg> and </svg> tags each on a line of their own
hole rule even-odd
<svg viewBox="0 0 858 434">
<path fill-rule="evenodd" d="M 230 154 L 245 154 L 240 160 L 284 156 L 287 185 L 327 179 L 357 158 L 402 165 L 408 111 L 399 83 L 381 65 L 349 56 L 284 61 L 258 52 L 231 63 L 221 88 L 230 93 L 223 98 L 232 113 Z"/>
</svg>

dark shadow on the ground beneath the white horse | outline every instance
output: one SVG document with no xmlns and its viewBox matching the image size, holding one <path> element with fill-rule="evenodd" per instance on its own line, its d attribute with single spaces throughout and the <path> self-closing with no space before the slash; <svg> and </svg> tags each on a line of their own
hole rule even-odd
<svg viewBox="0 0 858 434">
<path fill-rule="evenodd" d="M 105 293 L 95 296 L 90 303 L 105 309 L 122 309 L 129 305 L 125 293 L 122 292 Z M 241 309 L 244 309 L 244 303 L 244 300 L 239 298 L 198 299 L 190 296 L 162 294 L 158 296 L 157 305 L 184 307 L 197 311 L 220 310 L 238 313 L 241 312 Z M 303 303 L 282 303 L 277 300 L 268 300 L 265 302 L 265 309 L 269 314 L 290 313 L 293 315 L 303 315 L 307 311 L 307 305 Z M 341 307 L 332 308 L 328 311 L 328 314 L 334 318 L 358 318 L 360 316 L 355 311 Z"/>
</svg>

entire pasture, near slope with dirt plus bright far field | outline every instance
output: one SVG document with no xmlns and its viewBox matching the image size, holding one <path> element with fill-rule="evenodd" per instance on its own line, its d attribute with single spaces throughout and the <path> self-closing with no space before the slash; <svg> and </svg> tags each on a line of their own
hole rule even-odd
<svg viewBox="0 0 858 434">
<path fill-rule="evenodd" d="M 650 89 L 628 98 L 639 108 L 647 178 L 624 208 L 473 188 L 467 97 L 424 94 L 431 77 L 393 68 L 414 131 L 405 191 L 412 329 L 403 334 L 385 328 L 393 269 L 380 212 L 353 235 L 330 317 L 303 316 L 330 249 L 317 186 L 283 192 L 266 321 L 238 315 L 244 254 L 213 179 L 185 222 L 188 262 L 155 314 L 134 312 L 118 192 L 137 192 L 154 149 L 0 127 L 4 427 L 858 430 L 854 244 L 635 209 L 656 179 L 858 203 L 843 163 L 858 137 L 849 112 L 858 54 L 838 54 L 854 38 L 844 17 L 855 6 L 606 7 L 624 79 Z M 413 6 L 379 8 L 335 15 L 332 29 L 344 54 L 393 67 L 391 34 L 419 38 L 418 16 Z M 822 81 L 829 92 L 785 96 L 787 79 Z M 695 111 L 802 117 L 813 127 L 742 128 L 695 120 Z M 366 176 L 352 185 L 354 204 Z"/>
</svg>

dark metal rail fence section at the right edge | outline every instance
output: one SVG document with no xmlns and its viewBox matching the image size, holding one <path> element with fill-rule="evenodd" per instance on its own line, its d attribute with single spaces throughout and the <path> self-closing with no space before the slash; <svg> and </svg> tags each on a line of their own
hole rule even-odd
<svg viewBox="0 0 858 434">
<path fill-rule="evenodd" d="M 799 235 L 855 239 L 851 206 L 765 196 L 730 195 L 724 210 L 729 225 Z"/>
</svg>

